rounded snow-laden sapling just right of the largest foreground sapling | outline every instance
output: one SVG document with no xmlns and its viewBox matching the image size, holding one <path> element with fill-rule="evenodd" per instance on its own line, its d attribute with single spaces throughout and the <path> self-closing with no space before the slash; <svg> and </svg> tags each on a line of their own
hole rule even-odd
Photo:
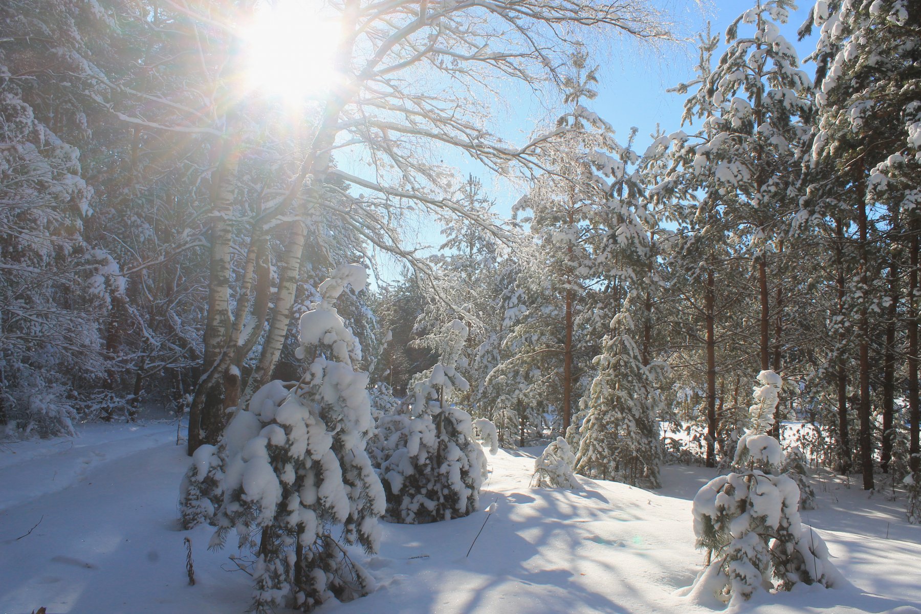
<svg viewBox="0 0 921 614">
<path fill-rule="evenodd" d="M 449 335 L 449 343 L 462 343 L 466 327 L 454 320 L 449 328 L 456 333 Z M 452 349 L 445 348 L 442 357 L 456 356 Z M 479 502 L 485 457 L 473 439 L 470 414 L 447 400 L 454 388 L 469 385 L 453 365 L 441 363 L 416 379 L 412 405 L 385 416 L 379 425 L 386 457 L 379 475 L 387 517 L 424 524 L 468 516 Z"/>
</svg>

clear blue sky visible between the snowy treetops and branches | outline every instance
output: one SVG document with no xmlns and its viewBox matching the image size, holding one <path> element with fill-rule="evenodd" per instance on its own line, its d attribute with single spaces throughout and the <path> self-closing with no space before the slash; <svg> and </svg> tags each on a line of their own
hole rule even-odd
<svg viewBox="0 0 921 614">
<path fill-rule="evenodd" d="M 679 7 L 677 17 L 682 19 L 691 31 L 705 29 L 707 20 L 712 23 L 714 34 L 722 37 L 726 28 L 744 11 L 754 6 L 753 0 L 715 0 L 703 12 L 691 6 Z M 811 1 L 799 4 L 799 9 L 791 13 L 781 33 L 796 46 L 800 60 L 812 50 L 814 38 L 797 41 L 797 29 L 809 15 Z M 744 35 L 744 30 L 743 30 Z M 714 61 L 725 49 L 721 44 Z M 681 128 L 682 111 L 685 96 L 668 93 L 666 90 L 694 76 L 694 64 L 697 63 L 697 50 L 694 43 L 680 49 L 670 49 L 667 53 L 639 52 L 628 43 L 615 43 L 614 48 L 604 55 L 594 58 L 594 64 L 600 64 L 599 96 L 587 106 L 605 121 L 612 124 L 617 138 L 625 142 L 632 127 L 639 130 L 635 149 L 642 152 L 655 132 L 657 124 L 666 133 Z M 803 70 L 808 75 L 814 73 L 814 66 L 806 64 Z M 546 110 L 533 98 L 522 98 L 507 105 L 504 114 L 497 118 L 497 124 L 507 127 L 502 134 L 515 143 L 523 143 L 534 127 L 541 122 L 553 120 L 557 111 Z M 686 129 L 685 129 L 686 130 Z M 686 132 L 690 132 L 686 130 Z M 452 156 L 446 156 L 446 162 L 458 164 L 461 170 L 478 176 L 484 184 L 488 195 L 495 199 L 495 212 L 508 216 L 511 206 L 520 196 L 519 188 L 507 181 L 495 180 L 484 168 L 467 163 Z M 435 245 L 440 242 L 440 227 L 434 222 L 420 221 L 415 228 L 402 228 L 408 245 Z M 379 259 L 381 278 L 392 280 L 399 276 L 401 264 L 390 258 Z"/>
</svg>

